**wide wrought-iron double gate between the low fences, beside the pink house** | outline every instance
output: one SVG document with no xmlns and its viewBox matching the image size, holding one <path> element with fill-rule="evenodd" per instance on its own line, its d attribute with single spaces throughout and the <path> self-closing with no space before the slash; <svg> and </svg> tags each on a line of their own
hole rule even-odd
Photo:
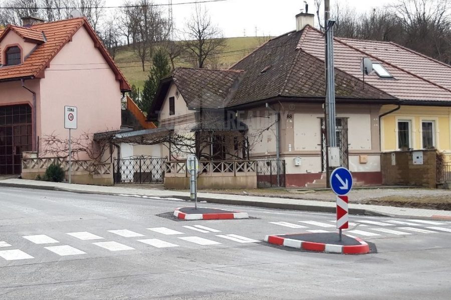
<svg viewBox="0 0 451 300">
<path fill-rule="evenodd" d="M 160 184 L 166 158 L 147 155 L 114 159 L 114 183 Z"/>
</svg>

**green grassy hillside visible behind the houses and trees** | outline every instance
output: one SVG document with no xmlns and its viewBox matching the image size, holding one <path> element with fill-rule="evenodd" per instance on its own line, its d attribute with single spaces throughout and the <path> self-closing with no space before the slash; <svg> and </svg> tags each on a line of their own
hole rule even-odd
<svg viewBox="0 0 451 300">
<path fill-rule="evenodd" d="M 228 68 L 245 55 L 249 54 L 252 50 L 245 50 L 249 48 L 258 47 L 265 39 L 263 37 L 231 37 L 227 38 L 227 47 L 222 50 L 223 53 L 218 54 L 218 61 L 216 63 L 217 68 Z M 192 57 L 186 57 L 190 54 L 183 54 L 184 58 L 177 59 L 176 66 L 193 66 Z M 130 49 L 130 47 L 122 46 L 119 48 L 116 57 L 116 63 L 121 68 L 127 80 L 130 84 L 135 84 L 139 89 L 142 89 L 144 80 L 147 78 L 148 69 L 150 68 L 150 61 L 145 63 L 146 71 L 142 71 L 141 62 L 139 57 L 136 56 Z M 186 61 L 188 62 L 182 62 Z"/>
</svg>

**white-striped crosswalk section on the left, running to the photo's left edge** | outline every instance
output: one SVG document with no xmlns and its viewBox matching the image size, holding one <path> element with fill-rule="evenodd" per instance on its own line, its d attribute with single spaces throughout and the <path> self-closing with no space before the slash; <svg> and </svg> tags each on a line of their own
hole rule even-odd
<svg viewBox="0 0 451 300">
<path fill-rule="evenodd" d="M 4 260 L 38 258 L 42 249 L 44 249 L 43 251 L 50 251 L 57 256 L 87 256 L 89 254 L 99 254 L 97 252 L 102 250 L 127 253 L 137 249 L 142 250 L 142 247 L 146 246 L 150 246 L 150 248 L 176 248 L 195 245 L 215 246 L 224 243 L 240 245 L 260 242 L 257 239 L 233 233 L 223 233 L 221 230 L 199 224 L 183 225 L 181 228 L 185 230 L 168 227 L 149 227 L 136 231 L 124 228 L 110 229 L 103 232 L 76 231 L 24 235 L 20 237 L 20 242 L 16 242 L 18 245 L 7 240 L 0 240 L 0 263 L 2 258 Z M 193 235 L 193 233 L 196 235 Z M 205 235 L 208 238 L 198 236 L 206 233 L 210 233 Z M 42 248 L 39 248 L 41 250 L 37 251 L 36 247 L 33 248 L 31 246 L 33 244 L 42 246 Z M 103 252 L 103 254 L 105 253 L 107 252 Z"/>
</svg>

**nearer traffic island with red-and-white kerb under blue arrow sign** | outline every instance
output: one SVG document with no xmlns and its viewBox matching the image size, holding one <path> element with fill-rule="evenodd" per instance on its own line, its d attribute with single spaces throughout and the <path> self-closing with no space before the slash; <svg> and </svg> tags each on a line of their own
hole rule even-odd
<svg viewBox="0 0 451 300">
<path fill-rule="evenodd" d="M 369 245 L 360 238 L 343 234 L 340 240 L 336 232 L 266 235 L 265 241 L 275 245 L 316 252 L 340 254 L 370 252 Z"/>
</svg>

